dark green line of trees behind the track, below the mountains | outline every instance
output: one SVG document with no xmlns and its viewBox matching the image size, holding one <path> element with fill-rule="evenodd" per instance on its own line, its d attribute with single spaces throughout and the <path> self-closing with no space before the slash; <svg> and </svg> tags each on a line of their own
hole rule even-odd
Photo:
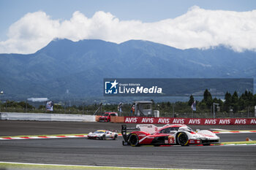
<svg viewBox="0 0 256 170">
<path fill-rule="evenodd" d="M 166 114 L 168 116 L 176 113 L 190 113 L 192 112 L 192 104 L 195 101 L 194 96 L 189 96 L 189 101 L 176 101 L 170 103 L 165 102 L 154 102 L 152 101 L 152 109 L 159 110 L 160 114 Z M 208 89 L 203 93 L 203 99 L 201 101 L 195 101 L 197 113 L 209 113 L 213 110 L 213 104 L 218 104 L 218 108 L 215 108 L 217 112 L 254 112 L 256 106 L 256 94 L 253 95 L 250 91 L 245 91 L 238 96 L 235 91 L 233 94 L 225 93 L 225 98 L 220 99 L 212 97 Z M 54 104 L 53 112 L 55 113 L 71 113 L 71 114 L 86 114 L 92 115 L 99 108 L 99 104 L 83 104 L 66 106 L 61 104 Z M 122 104 L 123 115 L 129 115 L 131 112 L 132 104 Z M 103 112 L 118 112 L 118 104 L 102 104 L 101 114 Z M 1 102 L 1 112 L 49 112 L 45 110 L 45 105 L 39 105 L 34 107 L 26 101 L 5 101 Z"/>
</svg>

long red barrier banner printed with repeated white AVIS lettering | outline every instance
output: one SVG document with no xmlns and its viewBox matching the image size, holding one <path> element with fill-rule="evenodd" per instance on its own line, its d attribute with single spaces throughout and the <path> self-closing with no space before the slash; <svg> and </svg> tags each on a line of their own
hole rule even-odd
<svg viewBox="0 0 256 170">
<path fill-rule="evenodd" d="M 186 125 L 256 125 L 256 118 L 173 118 L 124 117 L 123 123 L 186 124 Z"/>
</svg>

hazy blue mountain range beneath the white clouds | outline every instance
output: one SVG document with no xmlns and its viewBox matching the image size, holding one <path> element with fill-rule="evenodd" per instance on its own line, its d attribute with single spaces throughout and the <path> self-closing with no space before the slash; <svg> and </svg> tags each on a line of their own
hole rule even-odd
<svg viewBox="0 0 256 170">
<path fill-rule="evenodd" d="M 256 52 L 206 50 L 130 40 L 54 39 L 37 53 L 0 54 L 0 90 L 7 98 L 102 96 L 104 78 L 255 78 Z"/>
</svg>

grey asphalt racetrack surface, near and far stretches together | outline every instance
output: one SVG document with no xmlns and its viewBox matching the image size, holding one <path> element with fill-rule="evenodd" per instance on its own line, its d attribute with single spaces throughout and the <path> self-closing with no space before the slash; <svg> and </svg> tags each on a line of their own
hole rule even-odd
<svg viewBox="0 0 256 170">
<path fill-rule="evenodd" d="M 133 126 L 129 124 L 129 126 Z M 120 129 L 115 123 L 52 123 L 0 121 L 1 136 L 37 134 L 80 134 L 96 129 Z M 255 130 L 249 126 L 192 126 Z M 219 134 L 222 142 L 256 140 L 256 134 Z M 114 140 L 29 139 L 0 141 L 0 161 L 59 163 L 89 166 L 130 166 L 173 169 L 256 169 L 256 146 L 122 146 Z"/>
</svg>

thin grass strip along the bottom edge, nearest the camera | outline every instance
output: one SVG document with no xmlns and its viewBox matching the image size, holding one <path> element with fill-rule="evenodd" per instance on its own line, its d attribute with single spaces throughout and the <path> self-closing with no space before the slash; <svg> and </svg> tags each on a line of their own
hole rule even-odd
<svg viewBox="0 0 256 170">
<path fill-rule="evenodd" d="M 113 169 L 113 170 L 148 170 L 154 168 L 128 168 L 128 167 L 116 167 L 116 166 L 72 166 L 72 165 L 58 165 L 58 164 L 37 164 L 37 163 L 3 163 L 0 162 L 0 170 L 80 170 L 80 169 Z M 157 168 L 155 168 L 157 169 Z M 159 169 L 161 170 L 161 169 Z M 177 169 L 176 169 L 177 170 Z"/>
</svg>

